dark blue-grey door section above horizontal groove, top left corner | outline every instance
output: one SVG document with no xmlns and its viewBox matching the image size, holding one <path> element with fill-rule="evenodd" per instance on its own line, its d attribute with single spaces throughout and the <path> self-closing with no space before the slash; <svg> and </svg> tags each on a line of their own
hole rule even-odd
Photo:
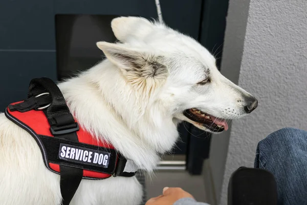
<svg viewBox="0 0 307 205">
<path fill-rule="evenodd" d="M 0 3 L 0 49 L 55 49 L 53 1 Z"/>
</svg>

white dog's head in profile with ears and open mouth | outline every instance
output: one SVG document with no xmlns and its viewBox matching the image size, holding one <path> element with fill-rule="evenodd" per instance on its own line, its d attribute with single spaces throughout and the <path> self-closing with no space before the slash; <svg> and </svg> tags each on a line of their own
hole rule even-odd
<svg viewBox="0 0 307 205">
<path fill-rule="evenodd" d="M 121 43 L 97 46 L 147 106 L 209 132 L 227 130 L 227 119 L 257 107 L 256 98 L 225 78 L 191 37 L 140 17 L 115 18 L 112 29 Z"/>
</svg>

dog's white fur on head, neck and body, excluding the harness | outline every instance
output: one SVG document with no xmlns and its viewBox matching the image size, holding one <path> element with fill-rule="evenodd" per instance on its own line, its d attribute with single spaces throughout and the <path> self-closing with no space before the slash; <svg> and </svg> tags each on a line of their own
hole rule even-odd
<svg viewBox="0 0 307 205">
<path fill-rule="evenodd" d="M 172 148 L 181 120 L 207 130 L 184 110 L 227 119 L 246 114 L 250 94 L 222 76 L 194 39 L 139 17 L 116 18 L 112 29 L 121 43 L 97 43 L 107 59 L 58 86 L 80 126 L 140 169 L 151 172 L 158 153 Z M 209 83 L 198 85 L 208 76 Z M 0 166 L 1 204 L 60 204 L 59 175 L 45 167 L 33 137 L 4 114 Z M 141 196 L 135 177 L 82 180 L 71 204 L 136 205 Z"/>
</svg>

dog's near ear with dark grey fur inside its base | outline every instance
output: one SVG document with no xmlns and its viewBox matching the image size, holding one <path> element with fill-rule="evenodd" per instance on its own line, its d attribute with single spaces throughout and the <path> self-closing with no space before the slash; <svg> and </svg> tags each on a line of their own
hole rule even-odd
<svg viewBox="0 0 307 205">
<path fill-rule="evenodd" d="M 161 83 L 168 76 L 168 70 L 162 64 L 163 57 L 146 51 L 127 48 L 123 44 L 98 42 L 97 47 L 105 56 L 117 65 L 132 84 Z M 150 83 L 149 83 L 150 82 Z"/>
</svg>

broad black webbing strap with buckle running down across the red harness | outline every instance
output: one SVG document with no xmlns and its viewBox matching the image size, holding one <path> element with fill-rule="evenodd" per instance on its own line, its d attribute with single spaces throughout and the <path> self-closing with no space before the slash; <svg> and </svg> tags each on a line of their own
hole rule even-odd
<svg viewBox="0 0 307 205">
<path fill-rule="evenodd" d="M 66 105 L 65 99 L 57 85 L 49 78 L 34 78 L 30 82 L 28 98 L 41 93 L 49 93 L 51 104 L 44 109 L 50 131 L 56 138 L 78 142 L 78 124 Z M 37 109 L 37 107 L 36 107 Z M 60 188 L 62 205 L 68 205 L 72 200 L 83 176 L 83 170 L 60 165 Z"/>
</svg>

